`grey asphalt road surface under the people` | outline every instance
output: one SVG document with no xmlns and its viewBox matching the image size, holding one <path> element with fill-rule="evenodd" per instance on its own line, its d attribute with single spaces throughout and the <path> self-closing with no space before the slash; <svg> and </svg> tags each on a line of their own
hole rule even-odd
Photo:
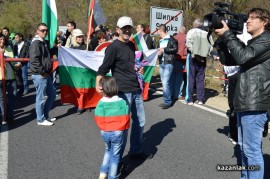
<svg viewBox="0 0 270 179">
<path fill-rule="evenodd" d="M 34 91 L 17 102 L 16 123 L 1 129 L 0 178 L 5 179 L 95 179 L 99 175 L 104 144 L 93 122 L 93 112 L 77 115 L 72 105 L 57 97 L 51 116 L 52 127 L 37 126 Z M 147 123 L 144 148 L 154 158 L 130 161 L 122 178 L 239 178 L 240 172 L 220 172 L 217 164 L 237 163 L 239 149 L 230 143 L 228 119 L 176 102 L 162 110 L 158 93 L 145 102 Z M 6 140 L 6 137 L 8 140 Z M 270 141 L 264 139 L 265 178 L 270 178 Z M 8 142 L 8 145 L 6 144 Z M 5 151 L 7 150 L 7 151 Z M 5 157 L 8 160 L 5 160 Z M 7 164 L 8 162 L 8 164 Z M 7 171 L 5 170 L 7 168 Z M 2 173 L 2 174 L 1 174 Z M 7 176 L 5 177 L 5 174 Z"/>
</svg>

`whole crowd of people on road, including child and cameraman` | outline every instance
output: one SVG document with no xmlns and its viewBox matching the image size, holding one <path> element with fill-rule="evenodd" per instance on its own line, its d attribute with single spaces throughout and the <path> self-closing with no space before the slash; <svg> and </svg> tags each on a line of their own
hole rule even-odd
<svg viewBox="0 0 270 179">
<path fill-rule="evenodd" d="M 49 49 L 45 41 L 48 27 L 44 23 L 37 26 L 33 38 L 28 34 L 28 39 L 24 39 L 21 33 L 16 33 L 15 38 L 11 39 L 9 29 L 4 27 L 0 30 L 0 53 L 10 58 L 30 58 L 30 61 L 5 64 L 6 112 L 0 73 L 2 124 L 11 125 L 14 122 L 15 101 L 29 93 L 30 67 L 36 89 L 37 124 L 53 125 L 56 118 L 50 117 L 49 112 L 57 95 L 57 75 L 56 71 L 51 71 L 51 59 L 57 57 L 58 48 L 63 46 L 94 51 L 98 45 L 111 41 L 96 78 L 96 91 L 103 98 L 95 110 L 95 121 L 106 144 L 100 179 L 117 178 L 129 126 L 130 158 L 151 159 L 152 154 L 144 153 L 142 146 L 146 118 L 142 90 L 138 83 L 138 74 L 134 70 L 136 48 L 130 41 L 133 30 L 136 29 L 137 33 L 142 33 L 148 49 L 156 48 L 158 51 L 157 60 L 163 87 L 163 103 L 159 106 L 163 110 L 173 107 L 178 100 L 187 105 L 194 105 L 194 102 L 203 105 L 206 100 L 204 84 L 207 58 L 215 54 L 214 59 L 221 61 L 229 85 L 229 138 L 233 144 L 240 145 L 242 165 L 261 167 L 260 171 L 242 172 L 242 177 L 263 178 L 261 141 L 263 134 L 267 134 L 267 110 L 270 107 L 270 14 L 265 9 L 254 8 L 249 11 L 248 16 L 247 32 L 251 34 L 249 38 L 252 40 L 243 43 L 246 39 L 236 37 L 226 23 L 222 22 L 223 28 L 215 31 L 219 38 L 214 45 L 214 53 L 213 38 L 202 26 L 201 19 L 195 19 L 193 28 L 189 31 L 180 26 L 179 32 L 174 36 L 168 35 L 166 25 L 161 24 L 157 29 L 160 39 L 156 44 L 146 26 L 138 24 L 135 27 L 130 17 L 119 18 L 115 32 L 106 26 L 97 26 L 91 39 L 86 39 L 85 33 L 76 27 L 74 21 L 70 21 L 67 23 L 67 32 L 57 32 L 52 49 Z M 110 70 L 112 77 L 106 77 Z M 143 74 L 143 68 L 139 69 L 139 73 Z M 83 106 L 76 107 L 78 115 L 85 110 L 91 111 Z M 108 119 L 113 122 L 106 124 Z"/>
</svg>

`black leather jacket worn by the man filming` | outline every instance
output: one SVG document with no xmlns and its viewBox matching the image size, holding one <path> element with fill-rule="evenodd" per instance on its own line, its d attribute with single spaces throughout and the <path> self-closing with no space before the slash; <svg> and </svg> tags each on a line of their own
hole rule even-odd
<svg viewBox="0 0 270 179">
<path fill-rule="evenodd" d="M 247 46 L 231 32 L 224 33 L 224 40 L 240 65 L 239 80 L 234 96 L 234 109 L 267 111 L 270 109 L 270 32 L 265 31 L 248 41 Z"/>
</svg>

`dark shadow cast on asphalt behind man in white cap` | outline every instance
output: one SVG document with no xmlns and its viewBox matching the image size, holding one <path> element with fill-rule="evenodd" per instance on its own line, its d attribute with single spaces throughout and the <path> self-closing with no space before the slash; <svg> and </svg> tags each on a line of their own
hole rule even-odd
<svg viewBox="0 0 270 179">
<path fill-rule="evenodd" d="M 152 125 L 143 135 L 144 151 L 150 152 L 154 156 L 158 151 L 157 146 L 161 144 L 163 139 L 172 132 L 175 127 L 176 125 L 172 118 L 165 119 L 164 121 Z M 138 166 L 143 164 L 145 160 L 131 160 L 129 156 L 126 155 L 122 161 L 125 163 L 125 166 L 122 170 L 120 179 L 128 177 L 128 175 Z"/>
</svg>

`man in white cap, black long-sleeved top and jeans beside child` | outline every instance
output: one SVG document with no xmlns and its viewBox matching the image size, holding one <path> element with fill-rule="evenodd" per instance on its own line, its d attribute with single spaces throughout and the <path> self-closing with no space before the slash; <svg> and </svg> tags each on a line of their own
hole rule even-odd
<svg viewBox="0 0 270 179">
<path fill-rule="evenodd" d="M 96 90 L 103 93 L 99 87 L 100 79 L 110 70 L 119 87 L 119 97 L 126 100 L 132 117 L 130 151 L 132 159 L 150 159 L 152 154 L 142 151 L 142 135 L 145 125 L 144 103 L 142 91 L 134 70 L 135 45 L 129 41 L 133 31 L 133 22 L 130 17 L 123 16 L 118 19 L 119 38 L 107 47 L 103 64 L 99 67 L 96 78 Z M 118 152 L 123 152 L 125 144 Z M 103 171 L 106 172 L 106 171 Z"/>
</svg>

